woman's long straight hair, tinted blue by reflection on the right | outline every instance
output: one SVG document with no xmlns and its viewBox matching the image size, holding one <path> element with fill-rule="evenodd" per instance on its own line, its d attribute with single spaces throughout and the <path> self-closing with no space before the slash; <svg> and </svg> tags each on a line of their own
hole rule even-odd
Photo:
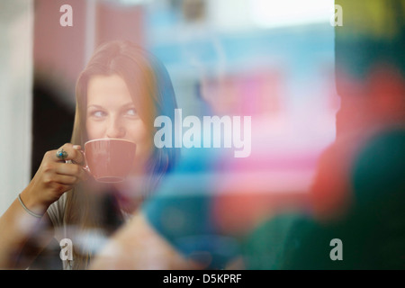
<svg viewBox="0 0 405 288">
<path fill-rule="evenodd" d="M 118 75 L 130 90 L 132 101 L 138 108 L 140 119 L 153 138 L 157 115 L 174 119 L 175 92 L 170 77 L 160 61 L 144 49 L 126 40 L 104 43 L 95 50 L 76 83 L 76 115 L 71 142 L 84 147 L 88 140 L 85 130 L 87 84 L 92 76 Z M 168 172 L 178 157 L 176 148 L 155 148 L 148 161 L 147 193 L 156 189 L 161 177 Z M 103 203 L 89 187 L 78 184 L 67 192 L 65 222 L 76 229 L 103 228 L 100 213 Z M 91 207 L 91 209 L 90 209 Z M 89 264 L 91 253 L 75 252 L 74 267 L 83 269 Z"/>
</svg>

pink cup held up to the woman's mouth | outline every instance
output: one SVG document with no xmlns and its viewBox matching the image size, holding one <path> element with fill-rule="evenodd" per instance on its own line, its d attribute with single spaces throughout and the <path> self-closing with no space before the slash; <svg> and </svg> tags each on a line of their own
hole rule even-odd
<svg viewBox="0 0 405 288">
<path fill-rule="evenodd" d="M 93 139 L 85 142 L 85 169 L 98 182 L 121 182 L 130 174 L 136 144 L 126 139 Z"/>
</svg>

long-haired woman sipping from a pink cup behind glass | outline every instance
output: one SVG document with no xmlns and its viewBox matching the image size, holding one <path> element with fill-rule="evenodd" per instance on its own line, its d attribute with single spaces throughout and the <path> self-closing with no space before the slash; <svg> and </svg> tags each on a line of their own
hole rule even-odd
<svg viewBox="0 0 405 288">
<path fill-rule="evenodd" d="M 57 239 L 73 241 L 73 261 L 64 262 L 64 268 L 88 266 L 96 242 L 87 241 L 94 233 L 83 232 L 112 233 L 174 165 L 176 150 L 155 148 L 153 136 L 157 115 L 173 119 L 175 108 L 173 86 L 157 58 L 129 41 L 112 41 L 97 49 L 77 80 L 71 143 L 45 154 L 31 183 L 0 219 L 0 235 L 7 234 L 0 246 L 0 265 L 17 265 L 15 257 L 12 264 L 7 262 L 10 249 L 14 256 L 22 255 L 31 235 L 50 227 Z M 133 181 L 98 184 L 85 173 L 85 142 L 103 138 L 137 144 Z M 29 219 L 29 229 L 19 228 L 22 215 Z M 35 249 L 45 243 L 41 238 Z"/>
</svg>

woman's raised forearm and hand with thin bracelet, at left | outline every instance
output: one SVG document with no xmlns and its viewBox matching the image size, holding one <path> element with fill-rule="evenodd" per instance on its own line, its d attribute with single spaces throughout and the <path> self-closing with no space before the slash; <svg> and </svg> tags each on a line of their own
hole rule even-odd
<svg viewBox="0 0 405 288">
<path fill-rule="evenodd" d="M 66 160 L 76 163 L 83 161 L 80 147 L 72 144 L 63 146 L 68 153 Z M 56 157 L 56 150 L 49 151 L 43 157 L 40 168 L 31 183 L 23 190 L 21 200 L 23 205 L 31 212 L 42 217 L 35 217 L 23 208 L 22 203 L 15 199 L 11 206 L 0 217 L 0 268 L 15 268 L 28 266 L 33 256 L 46 247 L 53 234 L 46 211 L 52 202 L 78 181 L 85 178 L 85 171 L 78 164 L 67 164 Z M 32 259 L 20 263 L 23 248 L 27 247 L 30 239 L 36 245 L 30 251 Z"/>
</svg>

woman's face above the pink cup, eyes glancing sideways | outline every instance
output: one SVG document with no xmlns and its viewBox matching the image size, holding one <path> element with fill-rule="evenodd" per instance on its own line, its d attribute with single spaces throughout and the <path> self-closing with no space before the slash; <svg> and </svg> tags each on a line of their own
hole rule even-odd
<svg viewBox="0 0 405 288">
<path fill-rule="evenodd" d="M 137 107 L 138 108 L 138 107 Z M 128 139 L 137 144 L 136 168 L 142 169 L 152 152 L 152 138 L 117 75 L 93 76 L 87 85 L 85 128 L 89 139 Z"/>
</svg>

